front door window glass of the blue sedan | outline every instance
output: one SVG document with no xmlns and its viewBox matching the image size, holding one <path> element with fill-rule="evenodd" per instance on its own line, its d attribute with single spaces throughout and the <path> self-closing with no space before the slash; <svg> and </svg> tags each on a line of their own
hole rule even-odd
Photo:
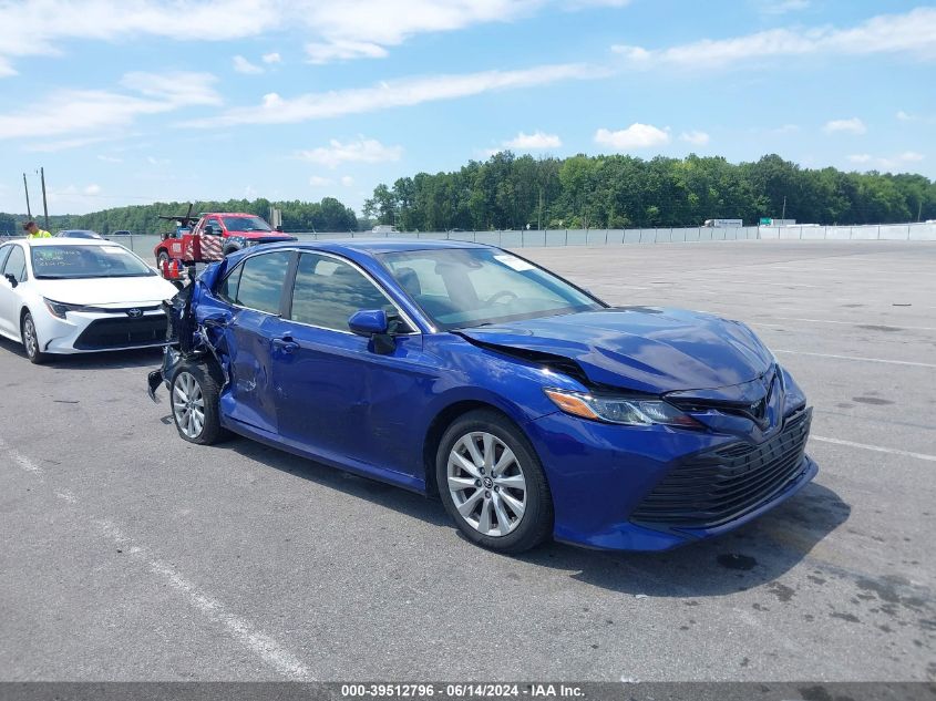
<svg viewBox="0 0 936 701">
<path fill-rule="evenodd" d="M 361 309 L 397 308 L 354 267 L 318 254 L 302 254 L 292 288 L 294 321 L 348 331 L 348 319 Z"/>
</svg>

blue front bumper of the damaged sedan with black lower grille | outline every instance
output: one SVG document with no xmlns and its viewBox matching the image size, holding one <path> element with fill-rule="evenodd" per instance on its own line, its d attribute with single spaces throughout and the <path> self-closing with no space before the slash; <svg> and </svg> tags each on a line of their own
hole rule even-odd
<svg viewBox="0 0 936 701">
<path fill-rule="evenodd" d="M 537 419 L 527 424 L 527 431 L 549 481 L 554 537 L 599 549 L 667 550 L 737 528 L 816 475 L 816 464 L 802 452 L 810 413 L 798 414 L 799 425 L 788 417 L 784 429 L 750 446 L 763 460 L 748 464 L 740 457 L 712 460 L 743 453 L 739 449 L 744 441 L 738 435 L 660 425 L 619 426 L 564 413 Z M 783 436 L 794 433 L 800 443 L 783 447 Z M 755 488 L 744 492 L 744 484 Z M 738 489 L 745 498 L 727 506 L 724 497 L 714 504 L 706 501 L 709 492 L 734 498 Z M 660 495 L 677 502 L 661 503 Z"/>
</svg>

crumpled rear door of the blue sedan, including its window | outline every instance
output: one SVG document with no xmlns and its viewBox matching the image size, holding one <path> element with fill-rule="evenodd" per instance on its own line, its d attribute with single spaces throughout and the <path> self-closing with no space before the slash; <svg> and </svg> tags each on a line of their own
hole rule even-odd
<svg viewBox="0 0 936 701">
<path fill-rule="evenodd" d="M 292 251 L 250 256 L 217 288 L 227 305 L 222 334 L 230 359 L 230 383 L 222 412 L 250 427 L 277 432 L 277 396 L 272 362 L 279 343 L 280 310 Z"/>
</svg>

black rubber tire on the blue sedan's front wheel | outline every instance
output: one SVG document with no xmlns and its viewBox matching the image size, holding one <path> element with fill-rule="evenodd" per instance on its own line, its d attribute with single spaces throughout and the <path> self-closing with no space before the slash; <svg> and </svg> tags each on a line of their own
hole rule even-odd
<svg viewBox="0 0 936 701">
<path fill-rule="evenodd" d="M 472 437 L 472 434 L 475 434 L 475 436 Z M 506 533 L 498 533 L 496 535 L 486 535 L 482 533 L 479 525 L 473 525 L 469 522 L 469 517 L 463 516 L 459 512 L 455 499 L 462 497 L 454 496 L 449 487 L 450 454 L 452 454 L 455 446 L 460 446 L 460 451 L 465 450 L 467 443 L 464 443 L 463 441 L 474 441 L 475 446 L 481 447 L 477 441 L 480 440 L 483 442 L 483 437 L 480 437 L 479 434 L 490 434 L 496 439 L 496 441 L 500 441 L 502 444 L 501 455 L 504 455 L 505 449 L 510 449 L 513 452 L 516 467 L 511 466 L 504 470 L 500 478 L 508 480 L 510 477 L 505 477 L 505 475 L 508 471 L 513 471 L 514 477 L 518 473 L 525 481 L 525 489 L 523 493 L 523 514 L 516 518 L 516 522 L 513 523 L 512 519 L 516 517 L 516 513 L 510 511 L 508 508 L 505 511 L 505 507 L 508 506 L 508 504 L 503 499 L 506 498 L 504 496 L 505 494 L 506 496 L 513 495 L 514 497 L 518 497 L 518 491 L 512 489 L 510 486 L 501 487 L 497 485 L 496 480 L 485 480 L 482 482 L 487 473 L 482 474 L 480 478 L 475 481 L 474 487 L 465 487 L 465 492 L 472 488 L 476 488 L 479 492 L 482 492 L 482 496 L 477 497 L 476 501 L 473 502 L 479 505 L 479 516 L 476 517 L 479 523 L 483 519 L 483 511 L 485 508 L 484 502 L 488 501 L 488 498 L 494 501 L 500 499 L 501 512 L 495 514 L 494 520 L 497 522 L 496 530 L 504 530 L 504 527 L 500 523 L 502 518 L 501 514 L 506 515 Z M 495 444 L 491 450 L 492 454 L 496 454 L 498 449 Z M 496 461 L 497 458 L 494 458 L 491 462 L 493 463 Z M 495 475 L 490 474 L 487 474 L 487 476 L 495 477 Z M 463 472 L 461 477 L 456 478 L 467 478 L 471 481 L 467 472 Z M 529 444 L 529 441 L 523 432 L 521 432 L 521 430 L 517 429 L 507 416 L 497 411 L 472 411 L 460 416 L 454 423 L 452 423 L 451 426 L 449 426 L 442 436 L 442 441 L 439 443 L 439 451 L 435 456 L 435 482 L 439 485 L 439 496 L 445 505 L 445 511 L 449 512 L 449 515 L 452 517 L 452 520 L 455 522 L 459 530 L 461 530 L 469 540 L 476 545 L 498 553 L 517 554 L 536 547 L 552 536 L 553 497 L 549 492 L 549 484 L 546 481 L 546 473 L 543 471 L 539 457 L 536 455 L 536 451 Z M 481 484 L 479 484 L 479 482 L 481 482 Z M 464 495 L 465 493 L 463 492 L 462 494 Z M 475 493 L 473 492 L 470 496 L 464 498 L 461 504 L 462 507 L 464 508 L 469 506 L 469 502 L 472 502 L 474 498 Z M 492 505 L 487 507 L 488 511 L 495 509 L 493 504 L 494 502 L 492 502 Z M 490 513 L 488 518 L 491 518 Z M 490 526 L 491 523 L 492 522 L 488 520 L 487 525 Z M 493 530 L 493 528 L 490 530 Z"/>
</svg>

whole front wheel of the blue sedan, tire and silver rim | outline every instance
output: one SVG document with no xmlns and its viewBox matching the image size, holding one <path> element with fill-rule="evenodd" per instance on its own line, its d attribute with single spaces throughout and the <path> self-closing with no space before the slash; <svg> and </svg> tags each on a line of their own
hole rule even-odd
<svg viewBox="0 0 936 701">
<path fill-rule="evenodd" d="M 522 553 L 553 530 L 553 499 L 535 451 L 495 411 L 473 411 L 452 424 L 436 455 L 445 509 L 472 543 Z"/>
</svg>

